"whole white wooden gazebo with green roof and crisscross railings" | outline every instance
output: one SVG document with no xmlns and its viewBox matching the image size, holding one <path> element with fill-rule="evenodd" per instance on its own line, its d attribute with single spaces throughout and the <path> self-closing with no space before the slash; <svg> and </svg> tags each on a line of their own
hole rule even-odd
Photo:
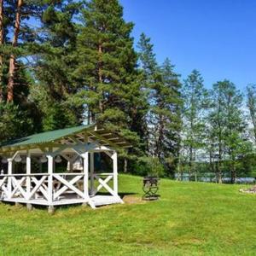
<svg viewBox="0 0 256 256">
<path fill-rule="evenodd" d="M 0 201 L 49 207 L 79 204 L 96 208 L 123 203 L 118 195 L 117 149 L 131 145 L 99 125 L 47 131 L 0 145 Z M 95 172 L 95 156 L 113 168 Z M 67 168 L 57 166 L 67 161 Z M 80 164 L 79 164 L 80 163 Z M 80 166 L 78 168 L 77 166 Z M 108 168 L 109 169 L 109 168 Z"/>
</svg>

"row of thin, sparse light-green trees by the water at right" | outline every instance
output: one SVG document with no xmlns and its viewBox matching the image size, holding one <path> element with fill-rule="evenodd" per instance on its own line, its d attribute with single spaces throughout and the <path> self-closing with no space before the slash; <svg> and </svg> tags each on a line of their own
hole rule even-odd
<svg viewBox="0 0 256 256">
<path fill-rule="evenodd" d="M 198 71 L 183 84 L 183 131 L 179 177 L 189 173 L 197 180 L 201 173 L 223 177 L 247 177 L 255 172 L 256 87 L 245 95 L 229 80 L 206 90 Z M 255 173 L 253 174 L 255 176 Z"/>
</svg>

